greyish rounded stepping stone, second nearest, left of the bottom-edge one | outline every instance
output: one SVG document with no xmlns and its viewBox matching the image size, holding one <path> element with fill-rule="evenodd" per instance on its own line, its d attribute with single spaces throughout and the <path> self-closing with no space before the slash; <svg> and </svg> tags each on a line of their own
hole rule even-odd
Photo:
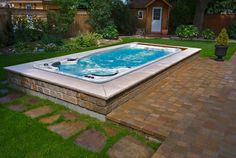
<svg viewBox="0 0 236 158">
<path fill-rule="evenodd" d="M 89 129 L 77 137 L 75 143 L 92 151 L 100 151 L 106 143 L 106 137 L 96 129 Z"/>
</svg>

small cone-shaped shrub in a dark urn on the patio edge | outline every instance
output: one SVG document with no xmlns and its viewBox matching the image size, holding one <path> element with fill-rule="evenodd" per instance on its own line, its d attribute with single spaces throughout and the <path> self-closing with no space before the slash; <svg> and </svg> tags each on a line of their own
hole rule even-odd
<svg viewBox="0 0 236 158">
<path fill-rule="evenodd" d="M 225 28 L 223 28 L 216 38 L 216 45 L 215 45 L 215 55 L 217 56 L 217 61 L 223 61 L 223 57 L 227 53 L 228 49 L 228 41 L 229 36 Z"/>
</svg>

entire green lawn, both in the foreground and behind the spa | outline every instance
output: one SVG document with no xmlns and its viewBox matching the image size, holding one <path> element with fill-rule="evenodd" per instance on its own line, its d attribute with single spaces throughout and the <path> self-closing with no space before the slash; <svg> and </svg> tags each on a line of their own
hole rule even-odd
<svg viewBox="0 0 236 158">
<path fill-rule="evenodd" d="M 147 42 L 158 43 L 168 45 L 178 45 L 187 47 L 202 48 L 201 55 L 206 57 L 214 57 L 214 42 L 200 42 L 200 41 L 181 41 L 181 40 L 167 40 L 167 39 L 133 39 L 124 38 L 121 43 L 129 42 Z M 95 49 L 95 48 L 90 48 Z M 87 49 L 87 50 L 90 50 Z M 1 55 L 0 56 L 0 80 L 7 78 L 4 67 L 10 65 L 16 65 L 26 63 L 30 61 L 36 61 L 40 59 L 52 58 L 56 56 L 62 56 L 66 54 L 81 52 L 85 50 L 77 50 L 73 52 L 62 53 L 38 53 L 38 54 L 21 54 L 21 55 Z M 226 59 L 230 57 L 236 51 L 236 44 L 229 44 L 228 54 Z M 4 85 L 0 85 L 0 88 L 4 88 Z M 70 139 L 63 139 L 59 135 L 56 135 L 46 129 L 46 126 L 39 123 L 37 119 L 30 119 L 22 113 L 17 113 L 7 108 L 10 104 L 27 104 L 26 100 L 31 96 L 23 96 L 20 99 L 0 105 L 0 157 L 9 158 L 44 158 L 44 157 L 108 157 L 108 149 L 125 135 L 133 135 L 137 139 L 146 143 L 152 148 L 157 148 L 159 144 L 146 141 L 144 136 L 135 133 L 134 131 L 120 127 L 111 122 L 100 122 L 96 119 L 80 115 L 80 119 L 88 124 L 88 128 L 96 128 L 104 135 L 104 127 L 112 127 L 116 129 L 117 135 L 114 137 L 108 137 L 105 148 L 100 153 L 93 153 L 74 144 L 74 137 Z M 54 104 L 47 100 L 39 99 L 39 103 L 36 105 L 27 105 L 30 108 L 49 105 L 56 112 L 65 110 L 62 106 Z"/>
</svg>

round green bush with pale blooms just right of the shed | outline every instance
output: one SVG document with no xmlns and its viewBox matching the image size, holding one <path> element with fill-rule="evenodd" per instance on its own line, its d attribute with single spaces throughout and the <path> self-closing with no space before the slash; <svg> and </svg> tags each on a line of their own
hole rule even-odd
<svg viewBox="0 0 236 158">
<path fill-rule="evenodd" d="M 199 35 L 199 31 L 194 25 L 180 25 L 177 27 L 175 34 L 180 38 L 193 39 Z"/>
</svg>

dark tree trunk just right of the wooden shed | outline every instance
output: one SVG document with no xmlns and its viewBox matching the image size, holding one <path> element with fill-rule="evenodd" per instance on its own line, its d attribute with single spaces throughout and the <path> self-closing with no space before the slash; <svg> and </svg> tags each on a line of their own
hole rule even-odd
<svg viewBox="0 0 236 158">
<path fill-rule="evenodd" d="M 196 0 L 196 11 L 193 24 L 202 30 L 205 10 L 210 0 Z"/>
</svg>

